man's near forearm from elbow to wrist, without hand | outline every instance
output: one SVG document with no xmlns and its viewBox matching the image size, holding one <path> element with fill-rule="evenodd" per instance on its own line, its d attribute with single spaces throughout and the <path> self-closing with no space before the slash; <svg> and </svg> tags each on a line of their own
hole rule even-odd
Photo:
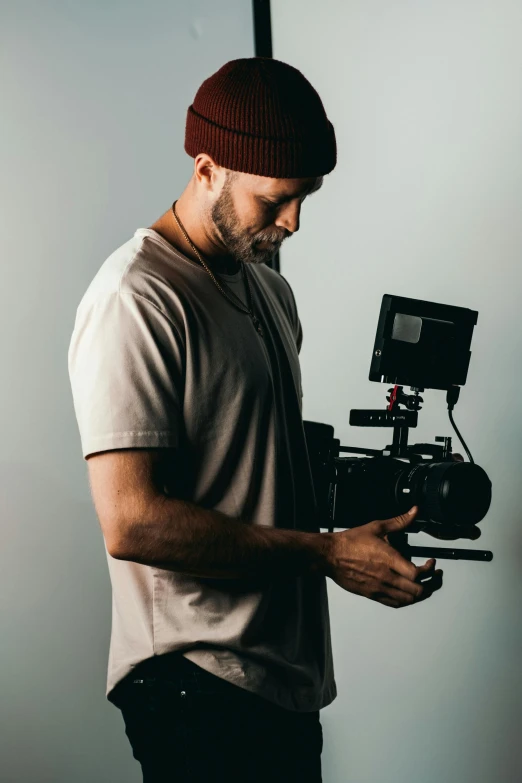
<svg viewBox="0 0 522 783">
<path fill-rule="evenodd" d="M 191 576 L 266 579 L 324 573 L 330 537 L 248 524 L 164 495 L 147 519 L 125 526 L 113 556 Z"/>
</svg>

